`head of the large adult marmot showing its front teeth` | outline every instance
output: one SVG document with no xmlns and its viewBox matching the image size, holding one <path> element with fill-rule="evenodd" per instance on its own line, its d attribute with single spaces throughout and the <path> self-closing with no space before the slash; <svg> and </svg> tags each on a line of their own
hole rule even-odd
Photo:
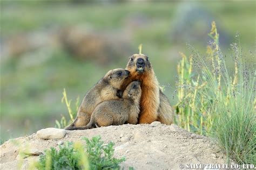
<svg viewBox="0 0 256 170">
<path fill-rule="evenodd" d="M 130 56 L 126 69 L 132 73 L 142 75 L 151 71 L 151 63 L 145 54 L 133 54 Z"/>
</svg>

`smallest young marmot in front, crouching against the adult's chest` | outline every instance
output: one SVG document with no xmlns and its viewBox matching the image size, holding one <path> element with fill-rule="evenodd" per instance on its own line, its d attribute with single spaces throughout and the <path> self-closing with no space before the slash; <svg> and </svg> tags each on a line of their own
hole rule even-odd
<svg viewBox="0 0 256 170">
<path fill-rule="evenodd" d="M 139 81 L 131 82 L 124 90 L 123 98 L 104 101 L 92 112 L 89 124 L 77 130 L 91 129 L 97 126 L 137 124 L 139 116 L 139 101 L 142 95 Z"/>
</svg>

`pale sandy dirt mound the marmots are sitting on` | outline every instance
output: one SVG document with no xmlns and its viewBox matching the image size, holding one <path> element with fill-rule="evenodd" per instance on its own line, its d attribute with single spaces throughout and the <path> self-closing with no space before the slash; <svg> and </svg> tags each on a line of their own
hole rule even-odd
<svg viewBox="0 0 256 170">
<path fill-rule="evenodd" d="M 226 157 L 213 140 L 178 128 L 176 125 L 152 124 L 107 126 L 91 130 L 67 131 L 63 139 L 44 140 L 35 133 L 6 141 L 0 146 L 1 169 L 27 169 L 31 156 L 21 162 L 19 148 L 29 148 L 43 152 L 50 147 L 57 147 L 62 141 L 78 141 L 82 137 L 91 138 L 100 135 L 107 143 L 115 144 L 115 157 L 126 157 L 122 166 L 135 169 L 180 169 L 183 164 L 225 164 Z M 16 144 L 15 144 L 16 143 Z M 18 145 L 17 145 L 18 143 Z M 20 160 L 19 160 L 20 159 Z M 22 165 L 22 164 L 23 165 Z"/>
</svg>

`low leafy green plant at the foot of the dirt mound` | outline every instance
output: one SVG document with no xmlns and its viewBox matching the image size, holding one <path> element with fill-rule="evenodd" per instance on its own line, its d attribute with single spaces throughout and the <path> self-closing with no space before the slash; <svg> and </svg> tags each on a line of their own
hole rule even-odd
<svg viewBox="0 0 256 170">
<path fill-rule="evenodd" d="M 81 143 L 67 142 L 63 146 L 46 150 L 35 164 L 38 169 L 119 169 L 125 158 L 113 158 L 113 143 L 104 144 L 100 137 Z M 86 152 L 84 152 L 86 150 Z"/>
</svg>

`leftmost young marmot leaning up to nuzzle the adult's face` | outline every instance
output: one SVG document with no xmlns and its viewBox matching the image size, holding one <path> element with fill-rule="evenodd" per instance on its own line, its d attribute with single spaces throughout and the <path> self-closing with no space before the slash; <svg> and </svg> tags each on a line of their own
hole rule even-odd
<svg viewBox="0 0 256 170">
<path fill-rule="evenodd" d="M 78 108 L 75 121 L 65 129 L 76 130 L 77 127 L 87 125 L 90 122 L 92 111 L 100 102 L 120 98 L 119 90 L 124 80 L 129 76 L 129 73 L 128 70 L 122 68 L 107 72 L 107 74 L 84 96 Z"/>
</svg>

